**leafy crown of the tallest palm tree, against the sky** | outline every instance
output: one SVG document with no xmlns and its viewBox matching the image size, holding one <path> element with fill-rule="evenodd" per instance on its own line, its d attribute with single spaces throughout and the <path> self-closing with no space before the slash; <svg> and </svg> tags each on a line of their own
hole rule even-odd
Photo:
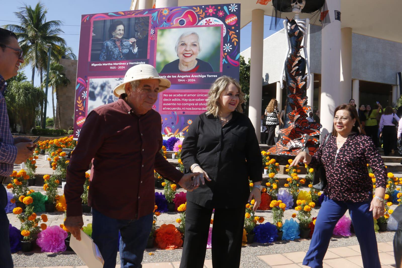
<svg viewBox="0 0 402 268">
<path fill-rule="evenodd" d="M 35 78 L 35 68 L 40 70 L 41 80 L 43 70 L 47 65 L 47 47 L 46 44 L 52 46 L 53 58 L 58 58 L 59 49 L 57 47 L 65 46 L 66 41 L 59 37 L 60 33 L 64 33 L 59 27 L 62 25 L 61 20 L 46 21 L 47 9 L 45 5 L 38 2 L 35 8 L 25 4 L 20 8 L 19 12 L 14 12 L 21 25 L 5 25 L 5 28 L 13 31 L 18 37 L 19 44 L 23 50 L 25 65 L 31 64 L 32 68 L 32 84 Z M 42 83 L 43 81 L 41 81 Z"/>
</svg>

